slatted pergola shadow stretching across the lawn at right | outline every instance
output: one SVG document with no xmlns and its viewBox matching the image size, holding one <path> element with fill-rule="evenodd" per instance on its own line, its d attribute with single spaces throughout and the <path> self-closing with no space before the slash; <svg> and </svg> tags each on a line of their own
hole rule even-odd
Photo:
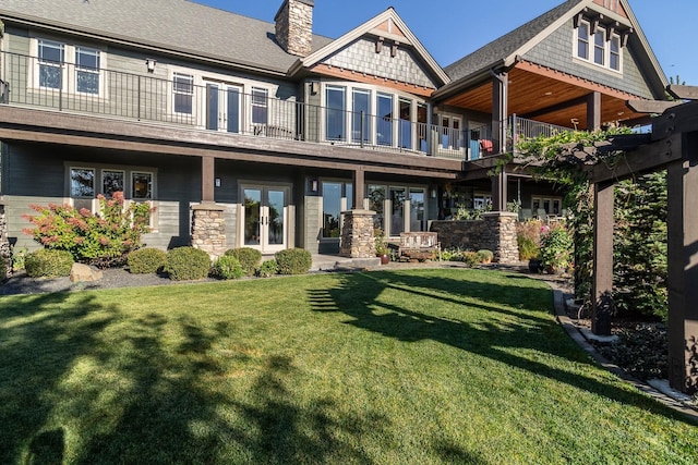
<svg viewBox="0 0 698 465">
<path fill-rule="evenodd" d="M 413 305 L 395 305 L 384 302 L 380 295 L 385 290 L 398 290 L 416 298 L 429 297 L 426 311 L 414 310 Z M 545 298 L 539 296 L 544 295 Z M 478 303 L 470 301 L 476 297 Z M 664 408 L 655 401 L 635 392 L 619 389 L 593 378 L 561 370 L 544 362 L 519 357 L 509 348 L 530 348 L 566 357 L 577 363 L 594 363 L 574 345 L 552 318 L 542 318 L 531 311 L 550 311 L 552 292 L 541 294 L 540 290 L 467 279 L 443 278 L 425 273 L 371 272 L 346 274 L 341 285 L 327 291 L 312 291 L 311 305 L 317 311 L 341 311 L 352 319 L 348 325 L 375 332 L 399 341 L 417 342 L 432 340 L 464 351 L 525 369 L 588 392 L 623 402 L 636 407 L 661 413 L 662 415 L 693 425 L 684 416 Z M 455 303 L 464 307 L 479 308 L 515 316 L 516 320 L 493 325 L 478 322 L 470 325 L 455 319 L 440 318 L 433 310 L 440 302 Z M 486 302 L 483 304 L 482 302 Z M 434 306 L 434 307 L 432 307 Z M 510 306 L 522 311 L 512 311 L 502 306 Z M 411 307 L 412 309 L 408 308 Z M 376 313 L 374 310 L 380 309 Z M 388 311 L 385 311 L 388 310 Z"/>
</svg>

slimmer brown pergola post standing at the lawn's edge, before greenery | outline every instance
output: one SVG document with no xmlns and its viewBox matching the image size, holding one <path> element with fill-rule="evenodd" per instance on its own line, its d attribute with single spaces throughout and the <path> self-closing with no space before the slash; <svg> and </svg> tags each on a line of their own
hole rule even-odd
<svg viewBox="0 0 698 465">
<path fill-rule="evenodd" d="M 594 184 L 591 331 L 611 335 L 613 315 L 613 182 Z"/>
</svg>

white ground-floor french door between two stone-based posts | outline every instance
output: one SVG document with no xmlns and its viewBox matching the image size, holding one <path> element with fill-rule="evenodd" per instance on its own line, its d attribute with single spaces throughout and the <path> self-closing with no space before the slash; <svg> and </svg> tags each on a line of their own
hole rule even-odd
<svg viewBox="0 0 698 465">
<path fill-rule="evenodd" d="M 273 254 L 287 248 L 289 188 L 242 187 L 242 245 Z"/>
</svg>

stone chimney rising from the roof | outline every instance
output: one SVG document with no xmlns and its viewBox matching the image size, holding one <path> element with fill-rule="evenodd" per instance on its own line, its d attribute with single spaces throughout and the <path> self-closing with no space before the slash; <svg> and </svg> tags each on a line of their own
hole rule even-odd
<svg viewBox="0 0 698 465">
<path fill-rule="evenodd" d="M 291 54 L 313 51 L 313 0 L 284 0 L 276 13 L 276 41 Z"/>
</svg>

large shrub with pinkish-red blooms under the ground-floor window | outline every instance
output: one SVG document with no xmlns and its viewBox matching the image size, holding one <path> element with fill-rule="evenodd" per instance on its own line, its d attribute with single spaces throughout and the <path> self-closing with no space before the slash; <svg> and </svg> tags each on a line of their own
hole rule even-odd
<svg viewBox="0 0 698 465">
<path fill-rule="evenodd" d="M 75 261 L 100 268 L 121 265 L 127 255 L 141 246 L 141 236 L 149 231 L 151 207 L 132 203 L 124 208 L 123 193 L 115 192 L 110 199 L 99 199 L 99 215 L 63 205 L 33 205 L 38 215 L 27 215 L 34 228 L 29 234 L 45 248 L 69 252 Z"/>
</svg>

